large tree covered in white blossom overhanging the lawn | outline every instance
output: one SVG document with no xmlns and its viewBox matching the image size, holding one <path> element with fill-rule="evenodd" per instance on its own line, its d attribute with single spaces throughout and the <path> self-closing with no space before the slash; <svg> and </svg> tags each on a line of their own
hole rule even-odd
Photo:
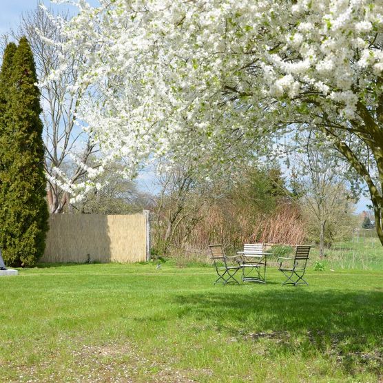
<svg viewBox="0 0 383 383">
<path fill-rule="evenodd" d="M 227 163 L 270 132 L 314 130 L 365 181 L 383 243 L 381 1 L 74 3 L 56 22 L 87 58 L 78 116 L 104 161 L 127 175 L 153 153 Z"/>
</svg>

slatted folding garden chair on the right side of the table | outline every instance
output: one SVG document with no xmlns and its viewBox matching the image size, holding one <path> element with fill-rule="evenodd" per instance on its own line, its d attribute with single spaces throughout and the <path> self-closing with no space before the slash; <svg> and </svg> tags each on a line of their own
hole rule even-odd
<svg viewBox="0 0 383 383">
<path fill-rule="evenodd" d="M 309 260 L 309 252 L 310 252 L 311 246 L 305 246 L 305 245 L 298 245 L 296 247 L 296 255 L 294 258 L 285 258 L 280 257 L 277 259 L 277 262 L 279 263 L 279 270 L 284 273 L 284 276 L 287 277 L 287 280 L 285 280 L 282 283 L 282 286 L 284 284 L 293 284 L 296 286 L 297 284 L 309 284 L 303 279 L 304 272 L 306 271 L 307 266 L 307 260 Z M 280 260 L 292 260 L 293 259 L 293 266 L 292 267 L 282 267 L 282 262 Z"/>
</svg>

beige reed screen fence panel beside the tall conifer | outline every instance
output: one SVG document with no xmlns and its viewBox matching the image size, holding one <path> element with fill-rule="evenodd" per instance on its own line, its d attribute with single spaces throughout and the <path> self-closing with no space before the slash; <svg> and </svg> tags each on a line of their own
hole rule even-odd
<svg viewBox="0 0 383 383">
<path fill-rule="evenodd" d="M 41 262 L 147 260 L 147 214 L 51 214 Z"/>
</svg>

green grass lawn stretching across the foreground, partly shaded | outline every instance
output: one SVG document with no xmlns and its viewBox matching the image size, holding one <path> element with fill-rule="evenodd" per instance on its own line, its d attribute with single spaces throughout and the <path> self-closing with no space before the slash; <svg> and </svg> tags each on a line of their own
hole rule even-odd
<svg viewBox="0 0 383 383">
<path fill-rule="evenodd" d="M 3 382 L 379 382 L 383 271 L 213 285 L 211 267 L 67 265 L 0 278 Z"/>
</svg>

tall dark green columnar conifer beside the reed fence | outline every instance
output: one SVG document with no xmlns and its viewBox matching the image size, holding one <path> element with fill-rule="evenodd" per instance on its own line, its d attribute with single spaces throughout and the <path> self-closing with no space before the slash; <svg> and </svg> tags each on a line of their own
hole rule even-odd
<svg viewBox="0 0 383 383">
<path fill-rule="evenodd" d="M 48 207 L 40 92 L 35 85 L 32 50 L 25 37 L 12 60 L 4 57 L 1 79 L 5 102 L 0 134 L 4 164 L 0 174 L 0 245 L 6 264 L 30 266 L 43 255 Z"/>
</svg>

